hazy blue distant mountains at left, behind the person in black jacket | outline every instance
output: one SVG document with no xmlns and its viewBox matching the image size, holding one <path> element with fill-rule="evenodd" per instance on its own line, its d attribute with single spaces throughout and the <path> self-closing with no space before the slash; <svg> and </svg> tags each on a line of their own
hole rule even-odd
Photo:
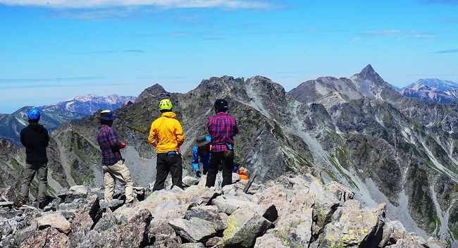
<svg viewBox="0 0 458 248">
<path fill-rule="evenodd" d="M 42 111 L 40 123 L 51 132 L 62 123 L 89 116 L 99 109 L 118 109 L 129 101 L 134 102 L 135 99 L 137 97 L 123 97 L 117 94 L 104 97 L 94 94 L 73 97 L 56 104 L 39 106 L 38 109 Z M 27 111 L 30 108 L 32 106 L 25 106 L 11 114 L 0 113 L 0 139 L 22 146 L 19 140 L 20 130 L 28 124 Z"/>
</svg>

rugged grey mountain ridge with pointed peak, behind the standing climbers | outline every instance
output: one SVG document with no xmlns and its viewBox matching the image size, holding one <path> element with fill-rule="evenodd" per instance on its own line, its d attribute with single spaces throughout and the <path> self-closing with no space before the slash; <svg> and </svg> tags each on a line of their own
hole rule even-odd
<svg viewBox="0 0 458 248">
<path fill-rule="evenodd" d="M 404 97 L 371 66 L 348 79 L 307 82 L 285 92 L 266 77 L 224 76 L 202 80 L 186 94 L 160 85 L 145 89 L 135 103 L 114 111 L 119 117 L 114 128 L 128 143 L 123 157 L 132 178 L 143 186 L 154 180 L 155 149 L 147 135 L 161 99 L 173 101 L 185 131 L 180 151 L 186 175 L 192 173 L 194 139 L 206 134 L 214 99 L 225 98 L 240 128 L 235 161 L 256 173 L 257 182 L 313 168 L 325 183 L 349 187 L 364 207 L 386 203 L 388 220 L 402 221 L 409 232 L 452 244 L 458 237 L 457 107 Z M 307 97 L 300 99 L 302 93 Z M 98 114 L 51 134 L 50 193 L 75 184 L 103 185 Z M 0 163 L 13 168 L 17 157 L 20 164 L 20 155 Z"/>
</svg>

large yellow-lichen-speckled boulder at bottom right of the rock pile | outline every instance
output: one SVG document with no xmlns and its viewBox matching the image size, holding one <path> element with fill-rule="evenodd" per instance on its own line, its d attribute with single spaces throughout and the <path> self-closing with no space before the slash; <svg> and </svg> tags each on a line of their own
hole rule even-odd
<svg viewBox="0 0 458 248">
<path fill-rule="evenodd" d="M 357 200 L 347 200 L 337 209 L 320 235 L 320 247 L 376 247 L 383 236 L 385 206 L 361 209 Z"/>
</svg>

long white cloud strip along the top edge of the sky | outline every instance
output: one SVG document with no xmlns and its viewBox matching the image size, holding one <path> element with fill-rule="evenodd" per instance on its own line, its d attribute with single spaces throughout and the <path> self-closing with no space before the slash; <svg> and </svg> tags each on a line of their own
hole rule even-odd
<svg viewBox="0 0 458 248">
<path fill-rule="evenodd" d="M 41 6 L 45 8 L 106 8 L 116 6 L 158 6 L 161 8 L 273 8 L 276 4 L 261 0 L 0 0 L 10 6 Z"/>
</svg>

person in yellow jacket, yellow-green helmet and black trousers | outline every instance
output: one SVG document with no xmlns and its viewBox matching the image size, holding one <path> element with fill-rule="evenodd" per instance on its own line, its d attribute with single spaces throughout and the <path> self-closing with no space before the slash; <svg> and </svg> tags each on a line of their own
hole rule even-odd
<svg viewBox="0 0 458 248">
<path fill-rule="evenodd" d="M 151 123 L 148 142 L 157 149 L 156 182 L 153 191 L 162 190 L 170 172 L 172 187 L 182 187 L 182 160 L 180 146 L 185 141 L 180 122 L 175 119 L 172 102 L 162 99 L 159 104 L 161 117 Z"/>
</svg>

